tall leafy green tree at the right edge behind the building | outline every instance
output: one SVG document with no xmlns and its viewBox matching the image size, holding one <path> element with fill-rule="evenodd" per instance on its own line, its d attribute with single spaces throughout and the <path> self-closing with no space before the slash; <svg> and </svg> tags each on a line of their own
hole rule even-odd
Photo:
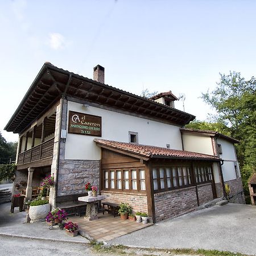
<svg viewBox="0 0 256 256">
<path fill-rule="evenodd" d="M 216 89 L 202 93 L 202 98 L 217 112 L 212 121 L 228 127 L 230 136 L 241 141 L 237 156 L 248 193 L 247 180 L 256 166 L 256 80 L 246 81 L 238 72 L 220 76 Z"/>
</svg>

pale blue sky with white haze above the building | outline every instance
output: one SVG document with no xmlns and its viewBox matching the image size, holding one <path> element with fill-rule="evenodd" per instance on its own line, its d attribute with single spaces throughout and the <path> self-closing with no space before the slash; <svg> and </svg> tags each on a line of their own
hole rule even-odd
<svg viewBox="0 0 256 256">
<path fill-rule="evenodd" d="M 44 62 L 140 94 L 184 94 L 185 112 L 207 120 L 200 98 L 219 73 L 256 71 L 256 1 L 5 0 L 0 1 L 0 131 Z M 183 110 L 183 102 L 175 108 Z"/>
</svg>

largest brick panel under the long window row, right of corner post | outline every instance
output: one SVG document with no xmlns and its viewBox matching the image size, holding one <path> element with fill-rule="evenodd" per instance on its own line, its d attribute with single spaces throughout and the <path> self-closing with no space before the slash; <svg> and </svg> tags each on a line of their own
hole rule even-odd
<svg viewBox="0 0 256 256">
<path fill-rule="evenodd" d="M 197 207 L 196 187 L 156 193 L 154 200 L 156 222 L 179 216 Z"/>
</svg>

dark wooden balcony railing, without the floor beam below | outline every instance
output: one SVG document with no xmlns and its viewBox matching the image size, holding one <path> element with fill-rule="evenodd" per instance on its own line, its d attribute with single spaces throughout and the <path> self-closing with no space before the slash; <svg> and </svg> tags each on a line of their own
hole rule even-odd
<svg viewBox="0 0 256 256">
<path fill-rule="evenodd" d="M 18 164 L 26 164 L 53 156 L 54 138 L 32 147 L 18 155 Z"/>
</svg>

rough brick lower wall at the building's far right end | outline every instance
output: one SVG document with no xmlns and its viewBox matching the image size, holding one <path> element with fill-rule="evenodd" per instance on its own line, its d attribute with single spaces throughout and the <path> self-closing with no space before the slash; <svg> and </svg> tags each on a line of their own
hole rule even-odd
<svg viewBox="0 0 256 256">
<path fill-rule="evenodd" d="M 236 204 L 245 204 L 245 194 L 243 193 L 241 177 L 234 180 L 228 180 L 225 184 L 226 183 L 228 183 L 230 187 L 229 201 Z M 242 193 L 240 193 L 241 191 Z"/>
</svg>

